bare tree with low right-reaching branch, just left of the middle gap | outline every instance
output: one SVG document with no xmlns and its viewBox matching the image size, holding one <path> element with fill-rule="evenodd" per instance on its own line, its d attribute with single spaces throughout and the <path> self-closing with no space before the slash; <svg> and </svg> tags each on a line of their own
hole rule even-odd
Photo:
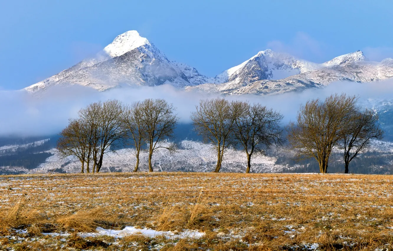
<svg viewBox="0 0 393 251">
<path fill-rule="evenodd" d="M 141 124 L 145 126 L 144 139 L 149 148 L 149 172 L 153 172 L 152 156 L 160 148 L 170 152 L 175 151 L 176 145 L 163 144 L 163 141 L 172 138 L 179 118 L 174 113 L 175 108 L 163 99 L 146 99 L 141 102 Z"/>
</svg>

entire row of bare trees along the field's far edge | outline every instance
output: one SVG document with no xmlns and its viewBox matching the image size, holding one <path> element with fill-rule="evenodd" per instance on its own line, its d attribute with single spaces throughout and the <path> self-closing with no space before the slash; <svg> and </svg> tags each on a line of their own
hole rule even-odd
<svg viewBox="0 0 393 251">
<path fill-rule="evenodd" d="M 314 157 L 320 172 L 326 173 L 329 157 L 341 150 L 345 173 L 349 163 L 370 145 L 372 138 L 381 139 L 378 115 L 362 111 L 355 96 L 334 94 L 324 101 L 309 100 L 301 106 L 296 121 L 286 131 L 292 149 L 301 158 Z M 152 156 L 160 148 L 169 152 L 176 145 L 167 141 L 173 137 L 178 123 L 175 107 L 162 99 L 146 99 L 124 105 L 118 100 L 96 102 L 79 111 L 79 118 L 70 120 L 58 140 L 57 149 L 64 155 L 74 155 L 81 161 L 81 172 L 99 172 L 104 156 L 119 146 L 135 147 L 138 171 L 140 152 L 146 149 L 149 171 L 153 171 Z M 228 101 L 224 98 L 200 100 L 191 113 L 195 131 L 205 142 L 213 144 L 219 172 L 229 147 L 242 149 L 250 172 L 255 154 L 264 154 L 272 145 L 283 140 L 283 115 L 259 103 Z"/>
</svg>

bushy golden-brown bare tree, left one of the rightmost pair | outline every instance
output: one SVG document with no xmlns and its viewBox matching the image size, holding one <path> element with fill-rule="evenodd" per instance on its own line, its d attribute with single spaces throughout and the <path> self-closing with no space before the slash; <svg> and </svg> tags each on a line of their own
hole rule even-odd
<svg viewBox="0 0 393 251">
<path fill-rule="evenodd" d="M 326 173 L 332 150 L 353 114 L 355 96 L 334 94 L 320 102 L 309 100 L 300 108 L 296 124 L 288 125 L 288 141 L 303 157 L 314 157 L 320 172 Z"/>
</svg>

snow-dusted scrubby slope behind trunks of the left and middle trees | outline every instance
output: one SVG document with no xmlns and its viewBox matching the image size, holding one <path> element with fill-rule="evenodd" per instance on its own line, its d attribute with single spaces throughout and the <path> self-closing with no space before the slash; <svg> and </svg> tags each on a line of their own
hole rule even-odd
<svg viewBox="0 0 393 251">
<path fill-rule="evenodd" d="M 211 172 L 217 163 L 217 155 L 211 144 L 191 140 L 183 140 L 181 148 L 170 154 L 166 149 L 160 149 L 153 155 L 154 171 L 173 172 Z M 81 163 L 76 157 L 62 158 L 56 149 L 50 150 L 52 155 L 38 168 L 29 173 L 46 173 L 55 169 L 66 172 L 80 172 Z M 140 154 L 140 170 L 147 171 L 147 152 Z M 252 172 L 282 172 L 284 166 L 276 165 L 274 157 L 255 155 L 252 159 Z M 136 157 L 134 149 L 126 148 L 116 153 L 108 153 L 104 157 L 100 172 L 131 172 L 134 170 Z M 246 170 L 246 155 L 244 151 L 228 149 L 222 163 L 222 172 L 244 172 Z"/>
</svg>

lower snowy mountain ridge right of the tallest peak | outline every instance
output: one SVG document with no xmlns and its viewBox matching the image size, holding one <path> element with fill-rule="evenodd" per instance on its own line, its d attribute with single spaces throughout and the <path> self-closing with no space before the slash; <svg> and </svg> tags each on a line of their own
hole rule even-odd
<svg viewBox="0 0 393 251">
<path fill-rule="evenodd" d="M 223 94 L 276 94 L 322 87 L 334 81 L 371 82 L 393 77 L 393 59 L 382 62 L 365 59 L 363 52 L 356 51 L 316 64 L 266 50 L 242 63 L 227 82 L 186 87 L 186 90 Z M 255 62 L 258 63 L 257 67 Z M 281 71 L 281 75 L 274 75 L 278 71 Z M 285 78 L 278 77 L 284 77 L 285 74 Z"/>
</svg>

